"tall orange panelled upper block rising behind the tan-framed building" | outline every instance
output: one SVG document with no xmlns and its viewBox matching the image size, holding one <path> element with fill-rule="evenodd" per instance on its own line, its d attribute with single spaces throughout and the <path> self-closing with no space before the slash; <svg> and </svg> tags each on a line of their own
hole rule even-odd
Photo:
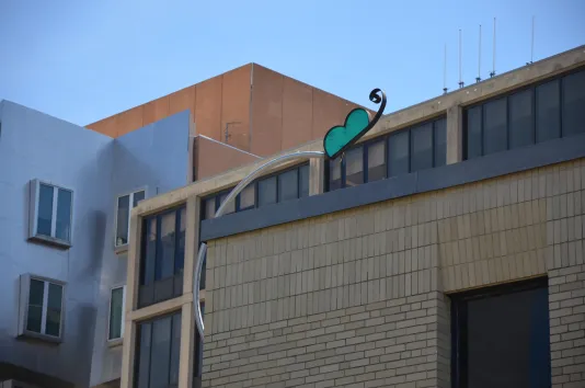
<svg viewBox="0 0 585 388">
<path fill-rule="evenodd" d="M 88 125 L 118 137 L 191 110 L 196 134 L 265 157 L 322 138 L 357 105 L 249 64 Z"/>
</svg>

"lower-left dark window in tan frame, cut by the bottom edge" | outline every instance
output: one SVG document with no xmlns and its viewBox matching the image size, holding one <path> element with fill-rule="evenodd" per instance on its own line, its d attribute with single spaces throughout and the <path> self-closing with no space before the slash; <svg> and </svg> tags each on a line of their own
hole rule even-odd
<svg viewBox="0 0 585 388">
<path fill-rule="evenodd" d="M 177 387 L 181 312 L 138 324 L 136 388 Z"/>
</svg>

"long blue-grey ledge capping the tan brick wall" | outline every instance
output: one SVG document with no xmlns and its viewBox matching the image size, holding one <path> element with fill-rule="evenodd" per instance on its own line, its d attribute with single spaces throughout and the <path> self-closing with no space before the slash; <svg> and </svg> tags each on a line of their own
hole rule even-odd
<svg viewBox="0 0 585 388">
<path fill-rule="evenodd" d="M 460 163 L 207 219 L 200 224 L 200 240 L 208 241 L 584 157 L 585 134 L 555 139 Z"/>
</svg>

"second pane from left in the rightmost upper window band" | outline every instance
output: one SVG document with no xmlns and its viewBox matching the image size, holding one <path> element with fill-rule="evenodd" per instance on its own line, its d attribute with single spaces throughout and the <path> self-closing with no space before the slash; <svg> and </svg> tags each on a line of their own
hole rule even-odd
<svg viewBox="0 0 585 388">
<path fill-rule="evenodd" d="M 483 105 L 483 155 L 507 149 L 506 114 L 505 98 Z"/>
</svg>

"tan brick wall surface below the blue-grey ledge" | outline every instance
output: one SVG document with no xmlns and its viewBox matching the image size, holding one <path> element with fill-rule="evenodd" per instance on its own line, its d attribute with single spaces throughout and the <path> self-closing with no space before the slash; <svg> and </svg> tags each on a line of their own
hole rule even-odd
<svg viewBox="0 0 585 388">
<path fill-rule="evenodd" d="M 449 387 L 445 294 L 542 275 L 583 386 L 584 189 L 581 160 L 210 241 L 204 386 Z"/>
</svg>

